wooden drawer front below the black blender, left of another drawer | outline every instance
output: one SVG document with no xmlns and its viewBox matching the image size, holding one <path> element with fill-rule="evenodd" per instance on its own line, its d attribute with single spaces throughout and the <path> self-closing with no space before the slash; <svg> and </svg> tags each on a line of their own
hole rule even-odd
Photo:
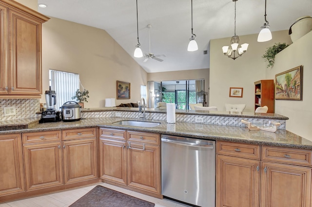
<svg viewBox="0 0 312 207">
<path fill-rule="evenodd" d="M 61 132 L 60 131 L 29 132 L 23 133 L 22 138 L 23 144 L 60 141 Z"/>
</svg>

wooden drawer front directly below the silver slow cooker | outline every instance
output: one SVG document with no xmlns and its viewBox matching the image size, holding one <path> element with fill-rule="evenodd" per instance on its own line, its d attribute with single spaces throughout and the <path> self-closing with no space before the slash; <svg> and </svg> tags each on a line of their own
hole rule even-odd
<svg viewBox="0 0 312 207">
<path fill-rule="evenodd" d="M 63 130 L 63 140 L 81 139 L 81 138 L 96 138 L 96 137 L 97 137 L 96 128 Z"/>
</svg>

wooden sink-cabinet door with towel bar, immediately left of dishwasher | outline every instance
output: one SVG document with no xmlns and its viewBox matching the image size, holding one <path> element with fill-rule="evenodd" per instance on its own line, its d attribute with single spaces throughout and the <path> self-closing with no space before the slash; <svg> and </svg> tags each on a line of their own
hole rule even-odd
<svg viewBox="0 0 312 207">
<path fill-rule="evenodd" d="M 128 186 L 160 194 L 159 146 L 128 141 Z"/>
</svg>

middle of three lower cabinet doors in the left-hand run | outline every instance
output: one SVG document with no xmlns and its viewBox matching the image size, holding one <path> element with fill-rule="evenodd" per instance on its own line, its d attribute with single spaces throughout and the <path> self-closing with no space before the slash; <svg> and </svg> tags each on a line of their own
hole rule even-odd
<svg viewBox="0 0 312 207">
<path fill-rule="evenodd" d="M 24 145 L 26 190 L 63 185 L 61 142 Z"/>
</svg>

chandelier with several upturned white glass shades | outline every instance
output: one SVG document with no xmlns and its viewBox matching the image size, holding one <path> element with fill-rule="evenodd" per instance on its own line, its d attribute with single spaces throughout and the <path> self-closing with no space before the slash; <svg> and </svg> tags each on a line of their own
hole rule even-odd
<svg viewBox="0 0 312 207">
<path fill-rule="evenodd" d="M 234 36 L 232 36 L 231 39 L 231 45 L 229 46 L 223 46 L 222 51 L 224 55 L 227 55 L 228 57 L 235 60 L 237 57 L 240 57 L 242 54 L 244 54 L 247 51 L 248 45 L 247 43 L 244 43 L 239 47 L 239 38 L 236 35 L 236 1 L 235 2 L 235 16 L 234 16 Z"/>
</svg>

